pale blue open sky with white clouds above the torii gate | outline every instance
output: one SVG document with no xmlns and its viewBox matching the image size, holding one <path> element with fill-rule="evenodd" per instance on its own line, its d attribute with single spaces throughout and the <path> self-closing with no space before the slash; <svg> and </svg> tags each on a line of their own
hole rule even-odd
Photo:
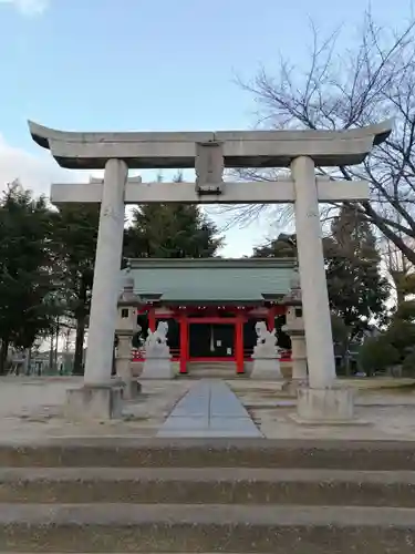
<svg viewBox="0 0 415 554">
<path fill-rule="evenodd" d="M 409 0 L 373 0 L 400 27 Z M 236 83 L 280 54 L 301 68 L 310 20 L 353 42 L 365 2 L 347 0 L 0 0 L 0 188 L 20 177 L 46 192 L 63 172 L 31 142 L 27 120 L 85 131 L 249 129 L 256 103 Z M 228 233 L 224 254 L 272 234 L 263 214 Z"/>
</svg>

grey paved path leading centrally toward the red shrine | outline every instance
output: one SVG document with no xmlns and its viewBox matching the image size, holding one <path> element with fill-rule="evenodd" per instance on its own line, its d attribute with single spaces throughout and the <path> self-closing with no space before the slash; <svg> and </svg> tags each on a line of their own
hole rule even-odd
<svg viewBox="0 0 415 554">
<path fill-rule="evenodd" d="M 222 381 L 201 380 L 176 404 L 157 437 L 263 437 Z"/>
</svg>

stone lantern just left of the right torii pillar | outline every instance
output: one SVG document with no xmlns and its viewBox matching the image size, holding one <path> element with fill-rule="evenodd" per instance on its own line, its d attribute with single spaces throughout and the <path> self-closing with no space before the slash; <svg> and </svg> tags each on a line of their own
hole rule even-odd
<svg viewBox="0 0 415 554">
<path fill-rule="evenodd" d="M 286 316 L 287 321 L 282 330 L 287 332 L 291 339 L 292 382 L 294 384 L 302 384 L 308 381 L 307 345 L 302 315 L 301 286 L 297 271 L 291 279 L 291 288 L 288 295 L 284 296 L 283 302 L 288 309 Z"/>
</svg>

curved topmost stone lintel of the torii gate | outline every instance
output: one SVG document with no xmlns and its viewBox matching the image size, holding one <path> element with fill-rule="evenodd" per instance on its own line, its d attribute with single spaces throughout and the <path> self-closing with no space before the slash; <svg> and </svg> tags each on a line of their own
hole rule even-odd
<svg viewBox="0 0 415 554">
<path fill-rule="evenodd" d="M 34 142 L 68 168 L 102 170 L 110 158 L 131 168 L 195 166 L 197 143 L 221 143 L 226 167 L 286 167 L 299 156 L 317 165 L 363 162 L 391 134 L 393 121 L 344 131 L 65 132 L 29 121 Z"/>
</svg>

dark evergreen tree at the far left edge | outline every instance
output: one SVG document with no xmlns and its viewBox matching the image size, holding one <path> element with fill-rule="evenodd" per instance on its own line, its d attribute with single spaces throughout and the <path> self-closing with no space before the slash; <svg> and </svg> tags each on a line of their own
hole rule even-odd
<svg viewBox="0 0 415 554">
<path fill-rule="evenodd" d="M 59 315 L 52 222 L 46 201 L 18 182 L 0 201 L 0 373 L 9 346 L 30 348 Z"/>
</svg>

